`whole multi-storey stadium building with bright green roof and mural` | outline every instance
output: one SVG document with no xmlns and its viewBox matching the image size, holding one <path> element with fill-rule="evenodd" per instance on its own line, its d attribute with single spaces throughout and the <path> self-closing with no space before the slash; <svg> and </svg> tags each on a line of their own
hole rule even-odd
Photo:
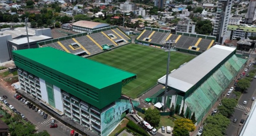
<svg viewBox="0 0 256 136">
<path fill-rule="evenodd" d="M 13 51 L 13 59 L 23 93 L 88 131 L 106 136 L 132 110 L 121 90 L 133 73 L 51 47 Z"/>
</svg>

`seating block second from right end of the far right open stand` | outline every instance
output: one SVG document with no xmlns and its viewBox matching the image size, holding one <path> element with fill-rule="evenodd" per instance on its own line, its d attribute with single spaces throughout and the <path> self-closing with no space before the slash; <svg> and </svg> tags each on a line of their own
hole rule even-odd
<svg viewBox="0 0 256 136">
<path fill-rule="evenodd" d="M 176 43 L 176 47 L 182 49 L 188 49 L 190 46 L 194 46 L 199 38 L 181 36 L 180 39 Z"/>
</svg>

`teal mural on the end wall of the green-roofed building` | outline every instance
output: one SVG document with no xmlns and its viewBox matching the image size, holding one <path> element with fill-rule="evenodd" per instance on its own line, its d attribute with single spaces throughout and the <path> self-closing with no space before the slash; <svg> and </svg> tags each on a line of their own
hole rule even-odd
<svg viewBox="0 0 256 136">
<path fill-rule="evenodd" d="M 139 102 L 132 101 L 134 106 L 138 106 Z M 129 100 L 119 99 L 115 105 L 101 113 L 101 135 L 107 136 L 116 125 L 125 117 L 126 112 L 130 112 L 132 106 Z"/>
</svg>

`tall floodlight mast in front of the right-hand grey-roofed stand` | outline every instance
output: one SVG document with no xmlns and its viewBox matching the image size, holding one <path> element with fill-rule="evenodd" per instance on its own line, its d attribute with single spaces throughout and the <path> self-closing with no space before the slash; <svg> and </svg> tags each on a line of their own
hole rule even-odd
<svg viewBox="0 0 256 136">
<path fill-rule="evenodd" d="M 167 59 L 167 69 L 166 69 L 166 80 L 165 80 L 165 90 L 164 90 L 164 109 L 166 111 L 166 98 L 167 98 L 167 89 L 168 89 L 168 74 L 169 74 L 169 63 L 170 63 L 170 52 L 175 50 L 175 41 L 163 41 L 163 47 L 166 48 L 165 51 L 168 51 L 168 59 Z"/>
</svg>

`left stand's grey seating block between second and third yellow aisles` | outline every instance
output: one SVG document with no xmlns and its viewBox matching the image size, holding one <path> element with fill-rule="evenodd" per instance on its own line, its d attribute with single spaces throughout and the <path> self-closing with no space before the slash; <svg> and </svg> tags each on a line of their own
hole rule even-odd
<svg viewBox="0 0 256 136">
<path fill-rule="evenodd" d="M 76 40 L 91 54 L 102 51 L 92 40 L 87 36 L 77 37 Z"/>
</svg>

